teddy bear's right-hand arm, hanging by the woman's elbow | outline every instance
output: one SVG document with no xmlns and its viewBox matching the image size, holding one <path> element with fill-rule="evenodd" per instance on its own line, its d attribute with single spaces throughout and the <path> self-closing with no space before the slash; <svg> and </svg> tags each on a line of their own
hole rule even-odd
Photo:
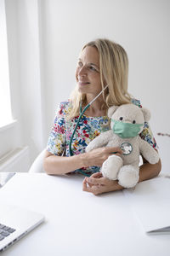
<svg viewBox="0 0 170 256">
<path fill-rule="evenodd" d="M 140 154 L 144 156 L 144 159 L 147 160 L 150 164 L 154 165 L 159 161 L 159 154 L 154 148 L 150 146 L 149 143 L 144 141 L 139 137 L 139 150 Z"/>
</svg>

